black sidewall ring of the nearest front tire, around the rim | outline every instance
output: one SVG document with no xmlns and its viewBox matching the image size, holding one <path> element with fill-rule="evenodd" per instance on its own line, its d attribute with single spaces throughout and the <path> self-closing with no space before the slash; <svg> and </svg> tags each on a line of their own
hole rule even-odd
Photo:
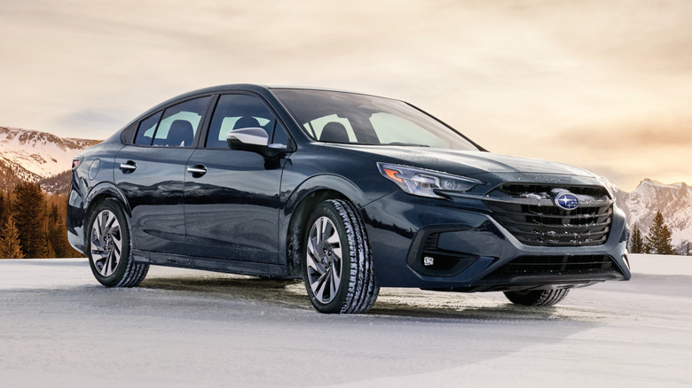
<svg viewBox="0 0 692 388">
<path fill-rule="evenodd" d="M 310 285 L 310 278 L 308 276 L 308 264 L 307 264 L 307 252 L 308 252 L 308 239 L 310 238 L 310 232 L 315 221 L 319 217 L 326 217 L 334 223 L 336 227 L 336 232 L 339 235 L 339 241 L 342 248 L 342 278 L 339 288 L 336 291 L 336 296 L 329 303 L 323 303 L 318 300 L 312 292 Z M 318 312 L 327 314 L 340 313 L 342 307 L 346 302 L 346 296 L 349 291 L 350 283 L 350 272 L 352 264 L 350 242 L 353 237 L 349 236 L 349 233 L 344 225 L 343 218 L 336 207 L 329 201 L 320 203 L 315 211 L 311 214 L 310 219 L 305 228 L 305 236 L 303 236 L 303 252 L 302 254 L 302 267 L 303 267 L 303 283 L 305 283 L 305 289 L 308 291 L 308 296 L 311 299 L 312 306 L 314 306 Z"/>
</svg>

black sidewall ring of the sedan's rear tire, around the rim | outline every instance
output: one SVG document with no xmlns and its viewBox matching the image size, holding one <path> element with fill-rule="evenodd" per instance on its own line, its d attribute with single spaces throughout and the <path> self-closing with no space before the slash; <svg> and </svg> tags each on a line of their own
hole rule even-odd
<svg viewBox="0 0 692 388">
<path fill-rule="evenodd" d="M 96 221 L 96 217 L 98 216 L 99 213 L 103 212 L 104 210 L 108 210 L 111 213 L 114 213 L 116 220 L 120 224 L 120 232 L 121 232 L 121 237 L 122 237 L 122 251 L 121 251 L 121 257 L 120 257 L 120 262 L 118 262 L 117 268 L 115 268 L 115 271 L 112 275 L 109 276 L 104 276 L 98 273 L 98 269 L 96 268 L 96 264 L 94 263 L 93 258 L 91 257 L 91 235 L 93 233 L 93 225 L 94 221 Z M 98 203 L 97 206 L 94 206 L 94 209 L 92 212 L 89 214 L 89 222 L 87 223 L 87 241 L 86 241 L 86 253 L 87 253 L 87 258 L 89 258 L 89 265 L 91 268 L 91 272 L 94 274 L 94 277 L 96 277 L 96 280 L 98 280 L 98 283 L 101 283 L 107 287 L 114 287 L 118 285 L 122 281 L 123 276 L 125 275 L 125 271 L 127 271 L 128 265 L 130 264 L 130 225 L 128 223 L 127 217 L 125 216 L 125 213 L 122 212 L 122 207 L 120 204 L 115 202 L 112 199 L 106 199 L 100 203 Z"/>
</svg>

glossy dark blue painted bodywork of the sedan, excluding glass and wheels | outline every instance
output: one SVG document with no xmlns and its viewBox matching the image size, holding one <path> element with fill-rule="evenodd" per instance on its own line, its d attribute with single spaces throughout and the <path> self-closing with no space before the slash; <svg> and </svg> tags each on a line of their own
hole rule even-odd
<svg viewBox="0 0 692 388">
<path fill-rule="evenodd" d="M 269 153 L 203 148 L 201 139 L 206 137 L 216 100 L 229 93 L 253 96 L 271 107 L 274 119 L 289 136 L 287 148 Z M 195 96 L 212 96 L 212 100 L 193 147 L 127 144 L 139 120 Z M 138 261 L 296 277 L 300 258 L 291 251 L 291 238 L 309 217 L 311 201 L 344 198 L 358 208 L 366 224 L 381 286 L 501 291 L 630 277 L 624 259 L 625 217 L 617 208 L 606 244 L 544 247 L 519 243 L 483 202 L 503 182 L 602 186 L 594 175 L 576 167 L 505 157 L 480 148 L 453 151 L 320 143 L 303 133 L 271 88 L 262 86 L 226 85 L 172 98 L 79 158 L 82 162 L 73 170 L 67 228 L 70 243 L 81 252 L 89 209 L 99 199 L 112 197 L 121 201 L 130 218 Z M 415 197 L 383 178 L 376 162 L 470 176 L 485 184 L 447 199 Z M 191 167 L 198 172 L 188 171 Z M 460 258 L 447 273 L 430 272 L 418 265 L 421 246 L 433 232 L 440 234 L 438 247 Z M 556 254 L 609 255 L 619 275 L 525 275 L 501 283 L 484 280 L 519 256 Z"/>
</svg>

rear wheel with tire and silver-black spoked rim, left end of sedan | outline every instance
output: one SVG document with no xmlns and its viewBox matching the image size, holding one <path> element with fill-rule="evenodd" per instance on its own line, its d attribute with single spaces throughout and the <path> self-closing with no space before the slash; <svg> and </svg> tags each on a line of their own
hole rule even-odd
<svg viewBox="0 0 692 388">
<path fill-rule="evenodd" d="M 130 254 L 130 229 L 114 199 L 98 203 L 87 223 L 89 264 L 106 287 L 133 287 L 144 280 L 149 264 L 135 263 Z"/>
</svg>

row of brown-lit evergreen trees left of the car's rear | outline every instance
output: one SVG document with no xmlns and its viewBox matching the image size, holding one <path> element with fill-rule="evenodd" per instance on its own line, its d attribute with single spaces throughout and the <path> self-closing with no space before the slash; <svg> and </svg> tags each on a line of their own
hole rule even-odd
<svg viewBox="0 0 692 388">
<path fill-rule="evenodd" d="M 0 259 L 83 257 L 67 241 L 67 194 L 46 194 L 38 183 L 0 190 Z"/>
</svg>

